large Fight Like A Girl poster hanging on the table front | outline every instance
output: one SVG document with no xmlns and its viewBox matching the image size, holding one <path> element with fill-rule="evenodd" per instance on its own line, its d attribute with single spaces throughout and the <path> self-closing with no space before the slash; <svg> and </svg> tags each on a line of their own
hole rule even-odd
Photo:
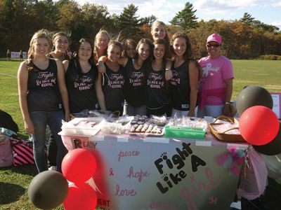
<svg viewBox="0 0 281 210">
<path fill-rule="evenodd" d="M 89 143 L 89 141 L 93 141 Z M 63 137 L 68 149 L 86 148 L 95 155 L 98 206 L 107 209 L 229 209 L 238 176 L 216 164 L 227 144 L 197 146 L 143 139 L 105 141 Z"/>
</svg>

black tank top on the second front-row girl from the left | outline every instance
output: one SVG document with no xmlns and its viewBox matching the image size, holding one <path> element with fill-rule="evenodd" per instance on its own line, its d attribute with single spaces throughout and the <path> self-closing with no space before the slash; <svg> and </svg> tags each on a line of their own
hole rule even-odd
<svg viewBox="0 0 281 210">
<path fill-rule="evenodd" d="M 97 74 L 98 69 L 96 65 L 93 65 L 89 72 L 83 73 L 79 61 L 77 59 L 70 60 L 65 73 L 70 113 L 98 108 L 95 88 Z"/>
</svg>

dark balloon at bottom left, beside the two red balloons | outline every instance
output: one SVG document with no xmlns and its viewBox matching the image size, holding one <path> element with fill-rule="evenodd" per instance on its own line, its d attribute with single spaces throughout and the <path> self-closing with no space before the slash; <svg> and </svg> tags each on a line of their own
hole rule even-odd
<svg viewBox="0 0 281 210">
<path fill-rule="evenodd" d="M 63 204 L 67 197 L 68 183 L 63 174 L 45 171 L 34 176 L 28 187 L 28 197 L 39 209 L 53 209 Z"/>
</svg>

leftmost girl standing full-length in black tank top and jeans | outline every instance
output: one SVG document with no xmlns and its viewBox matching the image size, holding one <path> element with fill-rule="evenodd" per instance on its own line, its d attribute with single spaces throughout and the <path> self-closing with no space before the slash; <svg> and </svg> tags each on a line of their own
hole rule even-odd
<svg viewBox="0 0 281 210">
<path fill-rule="evenodd" d="M 18 69 L 18 93 L 25 131 L 32 134 L 34 160 L 38 172 L 47 170 L 45 155 L 46 125 L 51 129 L 58 145 L 57 170 L 67 149 L 58 135 L 62 120 L 70 120 L 65 71 L 59 59 L 46 55 L 51 51 L 48 31 L 37 31 L 30 41 L 27 60 Z M 65 116 L 63 114 L 63 107 Z"/>
</svg>

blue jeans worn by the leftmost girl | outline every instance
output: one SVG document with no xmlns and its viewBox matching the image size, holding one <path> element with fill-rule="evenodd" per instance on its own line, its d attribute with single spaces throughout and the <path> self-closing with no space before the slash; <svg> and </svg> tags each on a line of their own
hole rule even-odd
<svg viewBox="0 0 281 210">
<path fill-rule="evenodd" d="M 63 145 L 63 141 L 60 135 L 58 135 L 58 132 L 61 131 L 63 111 L 33 111 L 30 113 L 30 117 L 34 125 L 33 152 L 38 172 L 40 173 L 47 170 L 45 155 L 46 125 L 50 127 L 53 138 L 58 146 L 56 162 L 57 170 L 58 172 L 61 172 L 61 163 L 63 161 L 63 157 L 67 153 L 67 149 Z"/>
</svg>

